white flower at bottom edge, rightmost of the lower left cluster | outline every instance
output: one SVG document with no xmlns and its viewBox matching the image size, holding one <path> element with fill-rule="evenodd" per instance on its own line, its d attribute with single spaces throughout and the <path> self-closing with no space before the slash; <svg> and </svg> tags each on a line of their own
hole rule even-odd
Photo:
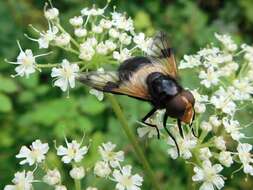
<svg viewBox="0 0 253 190">
<path fill-rule="evenodd" d="M 118 190 L 140 190 L 143 179 L 138 174 L 131 175 L 132 167 L 127 165 L 121 170 L 113 171 L 113 180 L 117 182 L 116 189 Z"/>
</svg>

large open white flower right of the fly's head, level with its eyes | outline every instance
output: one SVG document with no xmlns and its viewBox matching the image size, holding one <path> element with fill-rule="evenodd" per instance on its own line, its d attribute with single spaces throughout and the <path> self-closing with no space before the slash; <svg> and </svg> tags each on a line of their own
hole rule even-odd
<svg viewBox="0 0 253 190">
<path fill-rule="evenodd" d="M 232 101 L 232 97 L 228 94 L 224 88 L 220 87 L 211 97 L 211 103 L 224 113 L 233 115 L 235 113 L 236 104 Z"/>
</svg>

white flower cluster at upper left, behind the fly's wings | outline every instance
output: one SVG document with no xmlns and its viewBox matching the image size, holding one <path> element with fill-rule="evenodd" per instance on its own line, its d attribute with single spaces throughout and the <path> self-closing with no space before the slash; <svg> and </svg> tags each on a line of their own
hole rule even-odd
<svg viewBox="0 0 253 190">
<path fill-rule="evenodd" d="M 36 70 L 52 68 L 51 77 L 56 78 L 54 86 L 68 91 L 75 87 L 75 79 L 81 70 L 90 67 L 98 69 L 105 63 L 118 64 L 134 54 L 147 52 L 151 38 L 144 33 L 136 33 L 133 20 L 126 14 L 114 10 L 107 15 L 107 6 L 83 8 L 80 15 L 69 19 L 72 30 L 66 31 L 61 26 L 59 10 L 51 3 L 50 7 L 46 4 L 44 16 L 48 21 L 48 29 L 39 31 L 31 25 L 38 37 L 27 34 L 26 37 L 38 43 L 39 49 L 61 48 L 74 54 L 76 60 L 63 59 L 57 64 L 38 64 L 35 58 L 46 54 L 34 56 L 32 50 L 23 50 L 18 43 L 20 54 L 17 62 L 7 61 L 18 65 L 13 76 L 29 77 Z"/>
</svg>

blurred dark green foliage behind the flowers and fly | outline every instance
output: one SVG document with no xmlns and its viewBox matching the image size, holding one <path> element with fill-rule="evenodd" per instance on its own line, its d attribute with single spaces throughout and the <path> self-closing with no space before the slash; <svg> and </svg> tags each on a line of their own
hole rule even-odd
<svg viewBox="0 0 253 190">
<path fill-rule="evenodd" d="M 53 140 L 57 140 L 57 144 L 63 143 L 64 134 L 70 139 L 80 140 L 83 131 L 87 138 L 93 139 L 89 156 L 83 163 L 85 166 L 97 160 L 98 144 L 110 140 L 126 152 L 126 162 L 133 165 L 135 172 L 141 173 L 141 164 L 106 100 L 97 101 L 88 93 L 87 88 L 81 86 L 71 90 L 70 98 L 66 98 L 66 94 L 61 90 L 52 87 L 50 70 L 48 73 L 33 74 L 29 79 L 10 77 L 14 74 L 14 66 L 4 62 L 4 59 L 16 59 L 19 53 L 17 39 L 22 47 L 31 48 L 34 54 L 39 53 L 35 51 L 38 49 L 37 44 L 27 40 L 24 33 L 32 33 L 28 27 L 31 23 L 37 28 L 46 29 L 44 3 L 43 0 L 0 1 L 0 189 L 10 183 L 16 171 L 21 170 L 15 155 L 22 145 L 29 145 L 35 139 L 41 139 L 48 142 L 53 149 Z M 60 10 L 60 17 L 66 27 L 69 18 L 93 3 L 104 7 L 106 1 L 53 1 L 54 6 Z M 112 9 L 113 5 L 117 6 L 118 11 L 127 12 L 134 19 L 136 30 L 150 36 L 159 29 L 169 33 L 177 60 L 184 54 L 194 53 L 206 43 L 212 42 L 214 32 L 229 33 L 237 42 L 251 44 L 253 40 L 252 0 L 112 0 L 109 9 Z M 50 59 L 46 57 L 40 61 L 57 62 L 59 57 L 64 57 L 63 52 L 55 52 Z M 187 77 L 189 79 L 190 76 L 183 76 Z M 128 97 L 117 98 L 136 133 L 136 121 L 144 116 L 149 105 Z M 183 162 L 169 158 L 165 142 L 142 139 L 141 145 L 163 189 L 194 189 L 191 169 Z M 48 156 L 51 166 L 69 169 L 58 161 L 55 153 L 49 153 Z M 64 181 L 72 184 L 68 176 L 64 176 Z M 88 176 L 85 183 L 96 185 L 102 190 L 112 189 L 110 183 L 92 176 Z M 48 186 L 36 185 L 35 189 L 45 187 Z M 252 178 L 245 180 L 244 175 L 235 174 L 232 180 L 227 180 L 224 189 L 252 188 Z M 144 183 L 143 189 L 150 189 L 148 182 Z"/>
</svg>

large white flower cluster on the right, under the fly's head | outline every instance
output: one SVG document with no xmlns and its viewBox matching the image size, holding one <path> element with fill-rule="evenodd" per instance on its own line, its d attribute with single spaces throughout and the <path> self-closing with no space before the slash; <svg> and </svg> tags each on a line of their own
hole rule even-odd
<svg viewBox="0 0 253 190">
<path fill-rule="evenodd" d="M 215 37 L 219 47 L 211 44 L 194 55 L 185 55 L 180 62 L 180 69 L 198 73 L 199 86 L 191 90 L 196 101 L 196 118 L 192 127 L 183 127 L 183 138 L 177 126 L 172 124 L 170 128 L 180 157 L 194 164 L 192 180 L 202 182 L 201 190 L 221 189 L 226 179 L 221 174 L 223 168 L 236 163 L 241 165 L 239 170 L 253 176 L 252 145 L 242 141 L 247 138 L 243 129 L 250 123 L 242 125 L 237 115 L 252 103 L 253 47 L 243 44 L 239 49 L 230 36 L 215 34 Z M 162 128 L 161 114 L 156 116 L 160 122 L 151 121 L 159 128 Z M 138 129 L 139 136 L 143 133 L 153 136 L 154 129 L 145 129 Z M 171 138 L 167 142 L 170 157 L 178 158 L 175 142 Z"/>
</svg>

